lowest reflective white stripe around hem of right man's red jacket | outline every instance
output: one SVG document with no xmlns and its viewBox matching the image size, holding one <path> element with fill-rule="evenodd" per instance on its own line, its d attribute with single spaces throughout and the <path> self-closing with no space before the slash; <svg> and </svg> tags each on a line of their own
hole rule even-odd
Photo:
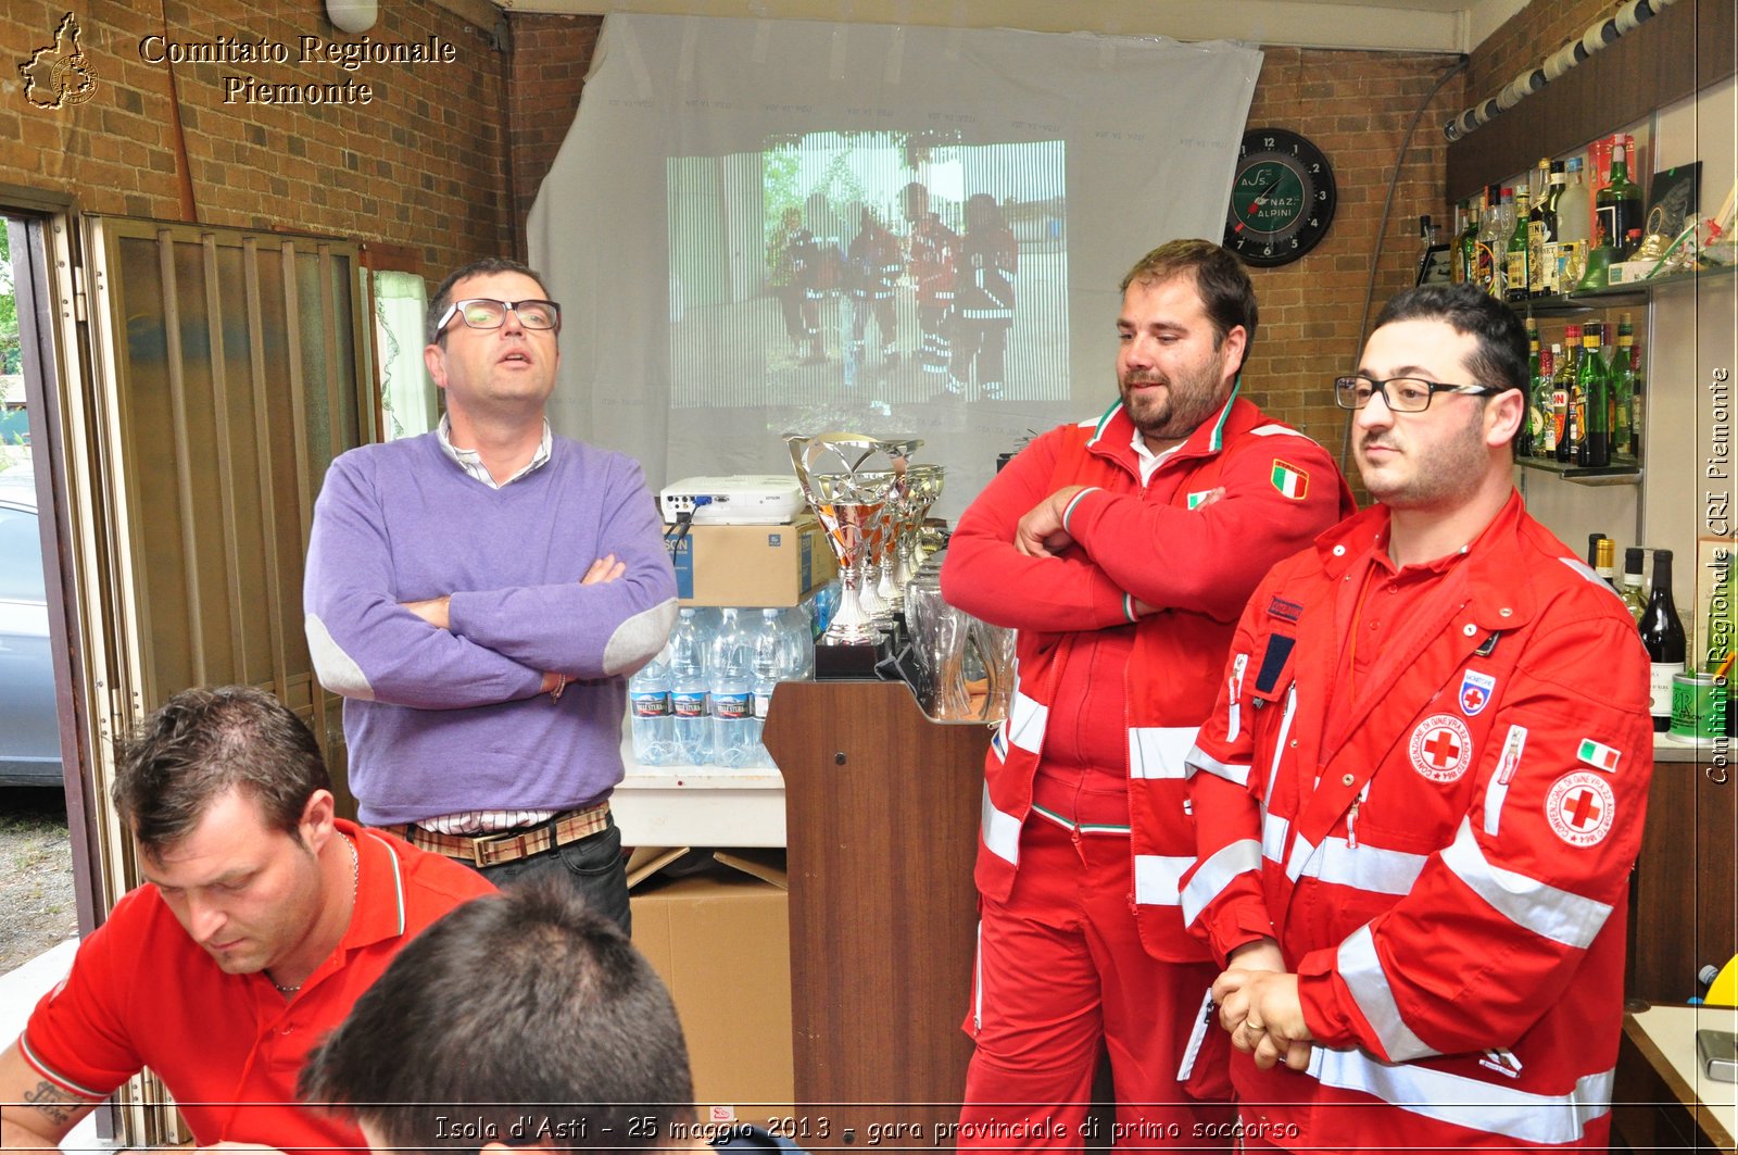
<svg viewBox="0 0 1738 1155">
<path fill-rule="evenodd" d="M 1467 1075 L 1389 1065 L 1363 1051 L 1310 1051 L 1309 1073 L 1324 1087 L 1363 1091 L 1375 1098 L 1467 1131 L 1526 1143 L 1576 1143 L 1595 1118 L 1611 1110 L 1615 1072 L 1582 1075 L 1569 1094 L 1531 1094 Z"/>
</svg>

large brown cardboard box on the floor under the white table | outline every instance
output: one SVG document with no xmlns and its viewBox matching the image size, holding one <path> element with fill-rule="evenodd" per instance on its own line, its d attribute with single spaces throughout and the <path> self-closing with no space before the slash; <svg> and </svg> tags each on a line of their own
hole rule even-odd
<svg viewBox="0 0 1738 1155">
<path fill-rule="evenodd" d="M 634 946 L 669 986 L 699 1118 L 793 1113 L 791 925 L 782 851 L 634 851 Z"/>
</svg>

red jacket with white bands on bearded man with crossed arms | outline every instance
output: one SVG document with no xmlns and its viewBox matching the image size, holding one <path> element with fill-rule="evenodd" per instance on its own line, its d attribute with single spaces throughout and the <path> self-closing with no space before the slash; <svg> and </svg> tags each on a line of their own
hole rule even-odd
<svg viewBox="0 0 1738 1155">
<path fill-rule="evenodd" d="M 1086 701 L 1126 736 L 1118 769 L 1128 776 L 1142 945 L 1156 958 L 1201 960 L 1177 906 L 1194 858 L 1184 755 L 1213 703 L 1248 590 L 1350 511 L 1352 497 L 1326 451 L 1244 400 L 1203 423 L 1145 485 L 1133 437 L 1121 404 L 1051 430 L 991 480 L 949 541 L 947 602 L 1018 630 L 1013 701 L 984 764 L 977 884 L 1003 899 L 1013 885 L 1048 704 L 1088 666 L 1069 659 L 1098 631 L 1131 631 L 1121 687 L 1093 687 Z M 1074 544 L 1053 558 L 1020 555 L 1020 517 L 1065 485 L 1093 487 L 1069 510 Z M 1224 499 L 1194 508 L 1220 485 Z M 1135 621 L 1135 600 L 1159 612 Z"/>
</svg>

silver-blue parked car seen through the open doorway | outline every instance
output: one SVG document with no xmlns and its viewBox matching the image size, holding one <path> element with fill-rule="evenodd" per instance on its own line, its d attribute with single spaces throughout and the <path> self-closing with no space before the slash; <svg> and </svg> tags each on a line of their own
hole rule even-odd
<svg viewBox="0 0 1738 1155">
<path fill-rule="evenodd" d="M 61 727 L 33 485 L 0 485 L 0 786 L 59 786 Z"/>
</svg>

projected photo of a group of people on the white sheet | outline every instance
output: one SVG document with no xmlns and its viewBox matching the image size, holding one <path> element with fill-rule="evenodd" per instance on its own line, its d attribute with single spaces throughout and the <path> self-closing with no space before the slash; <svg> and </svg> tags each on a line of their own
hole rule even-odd
<svg viewBox="0 0 1738 1155">
<path fill-rule="evenodd" d="M 815 132 L 666 188 L 673 405 L 1069 397 L 1062 141 Z"/>
</svg>

